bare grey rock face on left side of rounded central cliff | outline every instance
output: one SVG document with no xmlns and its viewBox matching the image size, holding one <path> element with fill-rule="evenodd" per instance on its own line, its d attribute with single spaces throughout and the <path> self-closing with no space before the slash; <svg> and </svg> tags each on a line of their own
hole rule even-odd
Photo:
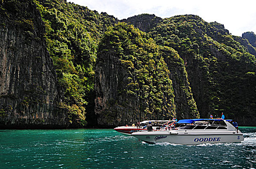
<svg viewBox="0 0 256 169">
<path fill-rule="evenodd" d="M 143 118 L 139 110 L 140 99 L 119 93 L 127 85 L 128 78 L 120 57 L 114 51 L 98 54 L 95 73 L 98 125 L 118 126 L 140 121 Z"/>
</svg>

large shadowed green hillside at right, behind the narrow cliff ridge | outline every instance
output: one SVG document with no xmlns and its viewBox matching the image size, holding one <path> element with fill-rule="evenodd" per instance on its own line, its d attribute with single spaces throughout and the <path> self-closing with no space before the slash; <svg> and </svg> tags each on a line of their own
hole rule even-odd
<svg viewBox="0 0 256 169">
<path fill-rule="evenodd" d="M 202 117 L 223 112 L 238 118 L 256 112 L 256 57 L 223 25 L 180 15 L 164 19 L 149 33 L 184 60 Z"/>
</svg>

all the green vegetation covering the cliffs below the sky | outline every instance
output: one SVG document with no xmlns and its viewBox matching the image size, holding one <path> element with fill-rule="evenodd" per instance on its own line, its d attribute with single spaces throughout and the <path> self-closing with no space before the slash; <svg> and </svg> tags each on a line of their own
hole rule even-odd
<svg viewBox="0 0 256 169">
<path fill-rule="evenodd" d="M 20 32 L 20 36 L 8 34 L 8 38 L 14 38 L 13 42 L 21 38 L 32 50 L 33 44 L 43 46 L 41 51 L 48 50 L 56 70 L 55 74 L 50 59 L 33 56 L 36 52 L 28 54 L 42 63 L 31 71 L 40 72 L 40 76 L 35 73 L 31 77 L 40 77 L 43 83 L 48 79 L 55 86 L 56 75 L 57 87 L 36 84 L 25 94 L 18 91 L 25 111 L 32 102 L 31 112 L 36 112 L 37 104 L 58 101 L 58 107 L 68 112 L 62 119 L 68 119 L 71 127 L 84 126 L 88 119 L 108 126 L 153 118 L 197 118 L 199 113 L 202 118 L 224 113 L 228 118 L 242 119 L 243 124 L 256 117 L 254 32 L 232 36 L 223 25 L 207 23 L 196 15 L 161 19 L 141 14 L 123 20 L 145 33 L 66 0 L 0 0 L 0 12 L 0 33 L 7 29 Z M 16 44 L 8 48 L 8 56 L 17 51 Z M 0 47 L 5 50 L 4 45 Z M 44 56 L 49 58 L 48 53 Z M 9 62 L 0 63 L 6 69 Z M 16 68 L 23 68 L 23 64 L 17 63 Z M 5 71 L 0 70 L 0 75 Z M 22 85 L 33 84 L 22 73 Z M 1 83 L 6 85 L 6 81 Z M 50 101 L 34 99 L 47 91 L 54 95 Z M 14 98 L 4 92 L 0 94 L 6 105 L 0 107 L 0 116 L 6 116 L 10 108 L 5 99 Z M 13 112 L 25 112 L 11 106 Z"/>
</svg>

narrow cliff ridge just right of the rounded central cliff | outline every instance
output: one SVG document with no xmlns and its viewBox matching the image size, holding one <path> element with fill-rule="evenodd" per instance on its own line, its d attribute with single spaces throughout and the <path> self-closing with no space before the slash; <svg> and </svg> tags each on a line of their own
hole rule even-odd
<svg viewBox="0 0 256 169">
<path fill-rule="evenodd" d="M 162 47 L 162 56 L 170 70 L 170 79 L 173 82 L 176 116 L 178 119 L 199 118 L 199 113 L 195 100 L 192 96 L 188 73 L 185 68 L 187 64 L 177 54 L 177 52 L 169 47 Z"/>
</svg>

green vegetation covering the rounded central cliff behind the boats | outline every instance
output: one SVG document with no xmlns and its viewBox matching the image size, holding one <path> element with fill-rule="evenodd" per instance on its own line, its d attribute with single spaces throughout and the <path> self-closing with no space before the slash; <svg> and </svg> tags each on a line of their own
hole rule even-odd
<svg viewBox="0 0 256 169">
<path fill-rule="evenodd" d="M 114 61 L 116 65 L 113 67 L 121 64 L 124 69 L 123 72 L 113 72 L 112 76 L 118 76 L 114 74 L 118 73 L 119 75 L 124 74 L 125 77 L 122 84 L 119 84 L 116 89 L 118 96 L 112 99 L 115 99 L 118 104 L 122 104 L 119 96 L 131 98 L 129 101 L 140 100 L 138 109 L 144 115 L 136 119 L 137 121 L 144 118 L 169 119 L 176 117 L 172 81 L 169 78 L 170 72 L 163 57 L 160 56 L 158 45 L 149 38 L 148 34 L 133 26 L 119 23 L 105 33 L 99 45 L 97 59 L 107 59 L 109 53 L 117 58 Z M 103 74 L 100 76 L 104 77 Z M 96 76 L 96 78 L 100 76 Z M 96 79 L 96 81 L 98 80 Z M 114 90 L 114 88 L 112 89 Z M 100 93 L 100 91 L 97 92 Z"/>
</svg>

